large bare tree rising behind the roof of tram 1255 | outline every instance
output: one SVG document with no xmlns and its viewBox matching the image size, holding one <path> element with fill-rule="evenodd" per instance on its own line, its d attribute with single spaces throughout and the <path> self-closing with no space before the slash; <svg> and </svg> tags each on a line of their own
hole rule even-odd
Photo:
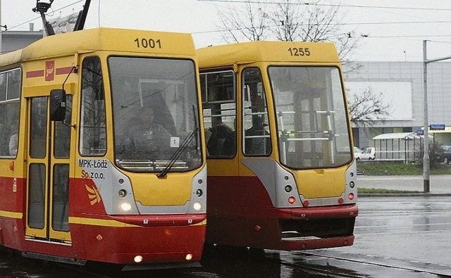
<svg viewBox="0 0 451 278">
<path fill-rule="evenodd" d="M 232 4 L 218 9 L 218 28 L 226 42 L 257 41 L 271 34 L 280 41 L 335 42 L 342 63 L 357 48 L 360 37 L 354 30 L 342 30 L 345 14 L 339 5 L 324 8 L 299 0 L 245 4 L 244 11 Z"/>
</svg>

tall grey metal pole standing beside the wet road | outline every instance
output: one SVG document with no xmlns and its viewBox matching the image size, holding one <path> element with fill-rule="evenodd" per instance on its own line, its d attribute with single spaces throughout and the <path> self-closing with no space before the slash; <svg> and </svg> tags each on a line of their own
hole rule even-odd
<svg viewBox="0 0 451 278">
<path fill-rule="evenodd" d="M 423 156 L 423 190 L 430 191 L 429 184 L 429 124 L 428 124 L 428 62 L 426 40 L 423 41 L 423 108 L 424 108 L 424 156 Z"/>
</svg>

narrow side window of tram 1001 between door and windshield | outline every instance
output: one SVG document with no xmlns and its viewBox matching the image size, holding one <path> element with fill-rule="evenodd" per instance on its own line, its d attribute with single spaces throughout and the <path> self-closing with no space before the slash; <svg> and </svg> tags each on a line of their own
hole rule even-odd
<svg viewBox="0 0 451 278">
<path fill-rule="evenodd" d="M 99 57 L 82 63 L 82 108 L 80 119 L 80 154 L 104 156 L 106 153 L 106 119 L 104 82 Z"/>
</svg>

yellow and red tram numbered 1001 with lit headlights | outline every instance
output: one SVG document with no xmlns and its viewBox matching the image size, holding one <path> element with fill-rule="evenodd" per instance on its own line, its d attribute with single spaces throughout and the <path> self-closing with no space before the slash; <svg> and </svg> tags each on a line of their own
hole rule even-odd
<svg viewBox="0 0 451 278">
<path fill-rule="evenodd" d="M 199 260 L 198 80 L 190 34 L 96 28 L 1 55 L 0 244 L 78 264 Z M 130 134 L 146 107 L 165 139 Z"/>
</svg>

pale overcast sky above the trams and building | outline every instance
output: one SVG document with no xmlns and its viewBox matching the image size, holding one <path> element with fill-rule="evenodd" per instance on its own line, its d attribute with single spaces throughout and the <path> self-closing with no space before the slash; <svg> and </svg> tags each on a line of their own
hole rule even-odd
<svg viewBox="0 0 451 278">
<path fill-rule="evenodd" d="M 1 25 L 8 30 L 42 29 L 35 0 L 0 0 Z M 245 5 L 234 0 L 238 11 Z M 283 0 L 256 0 L 271 3 Z M 49 0 L 44 0 L 49 2 Z M 196 47 L 224 44 L 218 32 L 218 8 L 228 6 L 223 0 L 92 0 L 85 28 L 123 27 L 133 29 L 190 32 Z M 422 61 L 423 40 L 427 39 L 428 58 L 451 56 L 450 0 L 341 0 L 302 1 L 304 3 L 340 4 L 345 13 L 345 29 L 362 37 L 356 61 Z M 19 4 L 20 3 L 20 4 Z M 48 19 L 66 16 L 82 9 L 85 0 L 54 0 Z M 127 6 L 125 6 L 125 4 Z M 275 4 L 272 4 L 275 5 Z M 4 30 L 4 29 L 2 29 Z M 451 61 L 451 60 L 450 60 Z"/>
</svg>

